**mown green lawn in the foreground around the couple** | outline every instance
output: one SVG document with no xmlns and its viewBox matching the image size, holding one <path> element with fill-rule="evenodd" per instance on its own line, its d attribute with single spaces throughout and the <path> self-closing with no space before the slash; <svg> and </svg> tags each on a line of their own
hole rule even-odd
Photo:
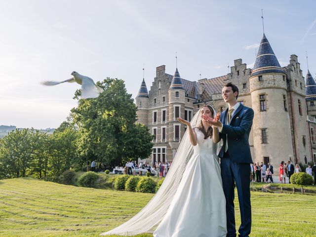
<svg viewBox="0 0 316 237">
<path fill-rule="evenodd" d="M 152 196 L 32 178 L 0 180 L 0 236 L 99 236 L 136 214 Z M 316 196 L 252 192 L 251 201 L 251 237 L 316 236 Z"/>
</svg>

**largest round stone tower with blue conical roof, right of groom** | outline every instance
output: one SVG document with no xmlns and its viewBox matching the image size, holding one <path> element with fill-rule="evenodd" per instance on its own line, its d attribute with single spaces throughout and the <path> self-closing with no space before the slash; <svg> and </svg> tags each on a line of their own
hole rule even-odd
<svg viewBox="0 0 316 237">
<path fill-rule="evenodd" d="M 254 161 L 271 161 L 275 167 L 282 160 L 293 161 L 286 73 L 281 69 L 265 35 L 260 43 L 249 85 L 254 110 Z"/>
</svg>

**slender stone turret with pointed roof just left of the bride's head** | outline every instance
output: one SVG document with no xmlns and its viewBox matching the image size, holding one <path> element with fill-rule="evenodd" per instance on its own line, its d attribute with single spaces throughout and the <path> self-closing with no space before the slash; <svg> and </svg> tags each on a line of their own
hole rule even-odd
<svg viewBox="0 0 316 237">
<path fill-rule="evenodd" d="M 182 134 L 184 133 L 184 126 L 177 120 L 177 118 L 184 118 L 185 106 L 185 89 L 178 72 L 178 68 L 174 73 L 171 85 L 168 90 L 169 97 L 169 146 L 172 149 L 172 158 L 174 158 L 179 147 Z"/>
</svg>

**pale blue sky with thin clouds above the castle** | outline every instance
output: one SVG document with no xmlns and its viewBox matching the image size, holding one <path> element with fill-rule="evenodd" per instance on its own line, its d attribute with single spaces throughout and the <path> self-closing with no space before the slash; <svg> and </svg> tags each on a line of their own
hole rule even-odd
<svg viewBox="0 0 316 237">
<path fill-rule="evenodd" d="M 316 75 L 316 3 L 301 0 L 0 0 L 0 125 L 58 127 L 77 105 L 78 84 L 45 87 L 77 71 L 123 79 L 137 95 L 156 67 L 189 80 L 248 67 L 265 33 L 281 66 L 296 54 Z"/>
</svg>

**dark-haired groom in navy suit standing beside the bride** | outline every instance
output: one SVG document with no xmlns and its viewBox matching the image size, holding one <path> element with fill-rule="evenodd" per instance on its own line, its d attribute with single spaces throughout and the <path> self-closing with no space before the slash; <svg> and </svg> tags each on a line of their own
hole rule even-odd
<svg viewBox="0 0 316 237">
<path fill-rule="evenodd" d="M 227 83 L 222 89 L 224 101 L 228 108 L 222 112 L 220 120 L 207 119 L 208 125 L 217 127 L 222 139 L 221 174 L 226 198 L 227 237 L 236 237 L 235 224 L 235 182 L 237 186 L 240 219 L 239 237 L 248 237 L 251 230 L 250 204 L 250 163 L 252 163 L 249 133 L 251 130 L 253 110 L 237 102 L 238 88 Z"/>
</svg>

